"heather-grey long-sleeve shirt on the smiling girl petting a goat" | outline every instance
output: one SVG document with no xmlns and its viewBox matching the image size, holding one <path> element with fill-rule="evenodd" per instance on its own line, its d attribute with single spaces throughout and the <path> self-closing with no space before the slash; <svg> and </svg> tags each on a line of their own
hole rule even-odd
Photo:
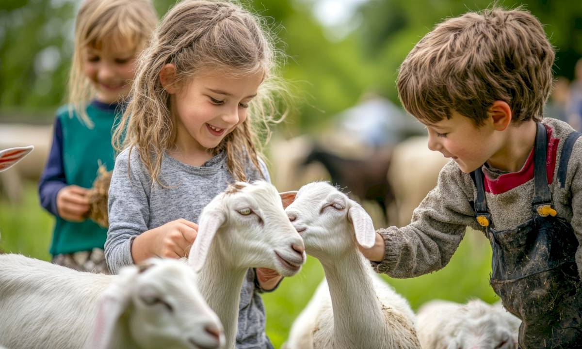
<svg viewBox="0 0 582 349">
<path fill-rule="evenodd" d="M 265 180 L 269 180 L 265 164 L 260 161 L 260 165 Z M 246 175 L 251 181 L 262 179 L 251 168 Z M 118 155 L 109 187 L 109 231 L 105 242 L 105 257 L 112 273 L 133 264 L 131 245 L 139 234 L 180 218 L 198 222 L 204 206 L 233 181 L 224 153 L 200 167 L 165 155 L 160 179 L 170 188 L 152 186 L 136 148 L 131 154 L 126 149 Z M 254 280 L 254 272 L 249 269 L 240 292 L 238 349 L 272 348 L 265 335 L 265 309 Z"/>
</svg>

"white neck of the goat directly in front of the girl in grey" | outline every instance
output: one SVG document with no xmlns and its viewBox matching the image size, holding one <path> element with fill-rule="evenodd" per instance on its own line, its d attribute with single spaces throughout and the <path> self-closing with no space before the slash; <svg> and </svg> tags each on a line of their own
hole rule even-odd
<svg viewBox="0 0 582 349">
<path fill-rule="evenodd" d="M 219 248 L 218 241 L 214 241 L 198 273 L 200 293 L 224 327 L 226 348 L 235 348 L 240 289 L 246 272 L 247 268 L 232 265 L 230 258 Z"/>
</svg>

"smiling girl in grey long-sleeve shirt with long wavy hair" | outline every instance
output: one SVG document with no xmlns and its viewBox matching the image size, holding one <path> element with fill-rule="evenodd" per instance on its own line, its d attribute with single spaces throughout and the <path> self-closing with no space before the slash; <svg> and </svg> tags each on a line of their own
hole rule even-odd
<svg viewBox="0 0 582 349">
<path fill-rule="evenodd" d="M 105 256 L 112 272 L 150 257 L 186 256 L 193 222 L 228 183 L 269 180 L 254 125 L 276 112 L 277 52 L 261 22 L 223 1 L 186 0 L 164 16 L 114 136 L 123 151 L 109 187 Z M 281 279 L 249 269 L 237 348 L 272 348 L 258 293 Z"/>
</svg>

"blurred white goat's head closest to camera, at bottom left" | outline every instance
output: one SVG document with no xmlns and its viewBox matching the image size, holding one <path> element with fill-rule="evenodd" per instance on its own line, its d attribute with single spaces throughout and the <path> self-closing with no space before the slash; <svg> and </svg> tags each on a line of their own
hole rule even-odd
<svg viewBox="0 0 582 349">
<path fill-rule="evenodd" d="M 91 348 L 119 346 L 119 326 L 144 349 L 225 344 L 221 322 L 198 292 L 194 271 L 173 259 L 152 258 L 122 269 L 100 299 Z"/>
</svg>

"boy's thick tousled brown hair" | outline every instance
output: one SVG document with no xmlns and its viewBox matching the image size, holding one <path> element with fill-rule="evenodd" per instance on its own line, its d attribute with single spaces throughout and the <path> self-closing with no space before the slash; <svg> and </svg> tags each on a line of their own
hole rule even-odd
<svg viewBox="0 0 582 349">
<path fill-rule="evenodd" d="M 410 51 L 398 74 L 402 105 L 427 122 L 452 111 L 480 126 L 494 101 L 514 122 L 540 121 L 555 53 L 542 24 L 521 8 L 469 12 L 438 24 Z"/>
</svg>

